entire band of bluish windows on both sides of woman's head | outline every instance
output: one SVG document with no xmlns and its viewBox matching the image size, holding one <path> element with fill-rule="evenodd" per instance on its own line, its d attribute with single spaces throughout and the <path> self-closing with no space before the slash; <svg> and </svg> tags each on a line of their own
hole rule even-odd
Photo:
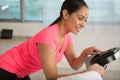
<svg viewBox="0 0 120 80">
<path fill-rule="evenodd" d="M 64 0 L 0 0 L 0 21 L 39 21 L 51 23 Z M 85 0 L 89 6 L 88 23 L 119 23 L 120 0 Z"/>
</svg>

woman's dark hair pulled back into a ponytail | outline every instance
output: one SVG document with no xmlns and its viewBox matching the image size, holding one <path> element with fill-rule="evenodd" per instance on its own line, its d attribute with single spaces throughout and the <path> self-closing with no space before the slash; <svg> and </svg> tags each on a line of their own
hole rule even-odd
<svg viewBox="0 0 120 80">
<path fill-rule="evenodd" d="M 72 14 L 73 12 L 77 11 L 81 7 L 87 7 L 87 4 L 84 0 L 65 0 L 62 4 L 61 11 L 60 11 L 60 16 L 51 24 L 58 23 L 62 19 L 62 11 L 66 9 L 69 14 Z"/>
</svg>

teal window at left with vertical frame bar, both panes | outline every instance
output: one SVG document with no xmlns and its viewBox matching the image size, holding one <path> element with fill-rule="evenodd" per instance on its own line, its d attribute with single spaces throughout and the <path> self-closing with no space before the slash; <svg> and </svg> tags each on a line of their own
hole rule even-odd
<svg viewBox="0 0 120 80">
<path fill-rule="evenodd" d="M 0 0 L 0 21 L 43 21 L 43 0 Z"/>
</svg>

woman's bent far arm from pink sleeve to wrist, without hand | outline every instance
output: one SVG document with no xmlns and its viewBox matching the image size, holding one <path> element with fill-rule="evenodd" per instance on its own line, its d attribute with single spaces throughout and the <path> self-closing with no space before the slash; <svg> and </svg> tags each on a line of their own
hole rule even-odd
<svg viewBox="0 0 120 80">
<path fill-rule="evenodd" d="M 87 56 L 87 54 L 82 53 L 77 57 L 72 44 L 65 51 L 65 57 L 74 70 L 79 69 L 83 65 Z"/>
</svg>

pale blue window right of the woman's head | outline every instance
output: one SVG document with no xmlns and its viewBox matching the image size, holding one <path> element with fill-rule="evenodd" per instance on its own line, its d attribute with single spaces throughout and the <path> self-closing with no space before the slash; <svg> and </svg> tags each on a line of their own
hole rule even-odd
<svg viewBox="0 0 120 80">
<path fill-rule="evenodd" d="M 120 23 L 119 0 L 86 0 L 90 23 Z"/>
</svg>

